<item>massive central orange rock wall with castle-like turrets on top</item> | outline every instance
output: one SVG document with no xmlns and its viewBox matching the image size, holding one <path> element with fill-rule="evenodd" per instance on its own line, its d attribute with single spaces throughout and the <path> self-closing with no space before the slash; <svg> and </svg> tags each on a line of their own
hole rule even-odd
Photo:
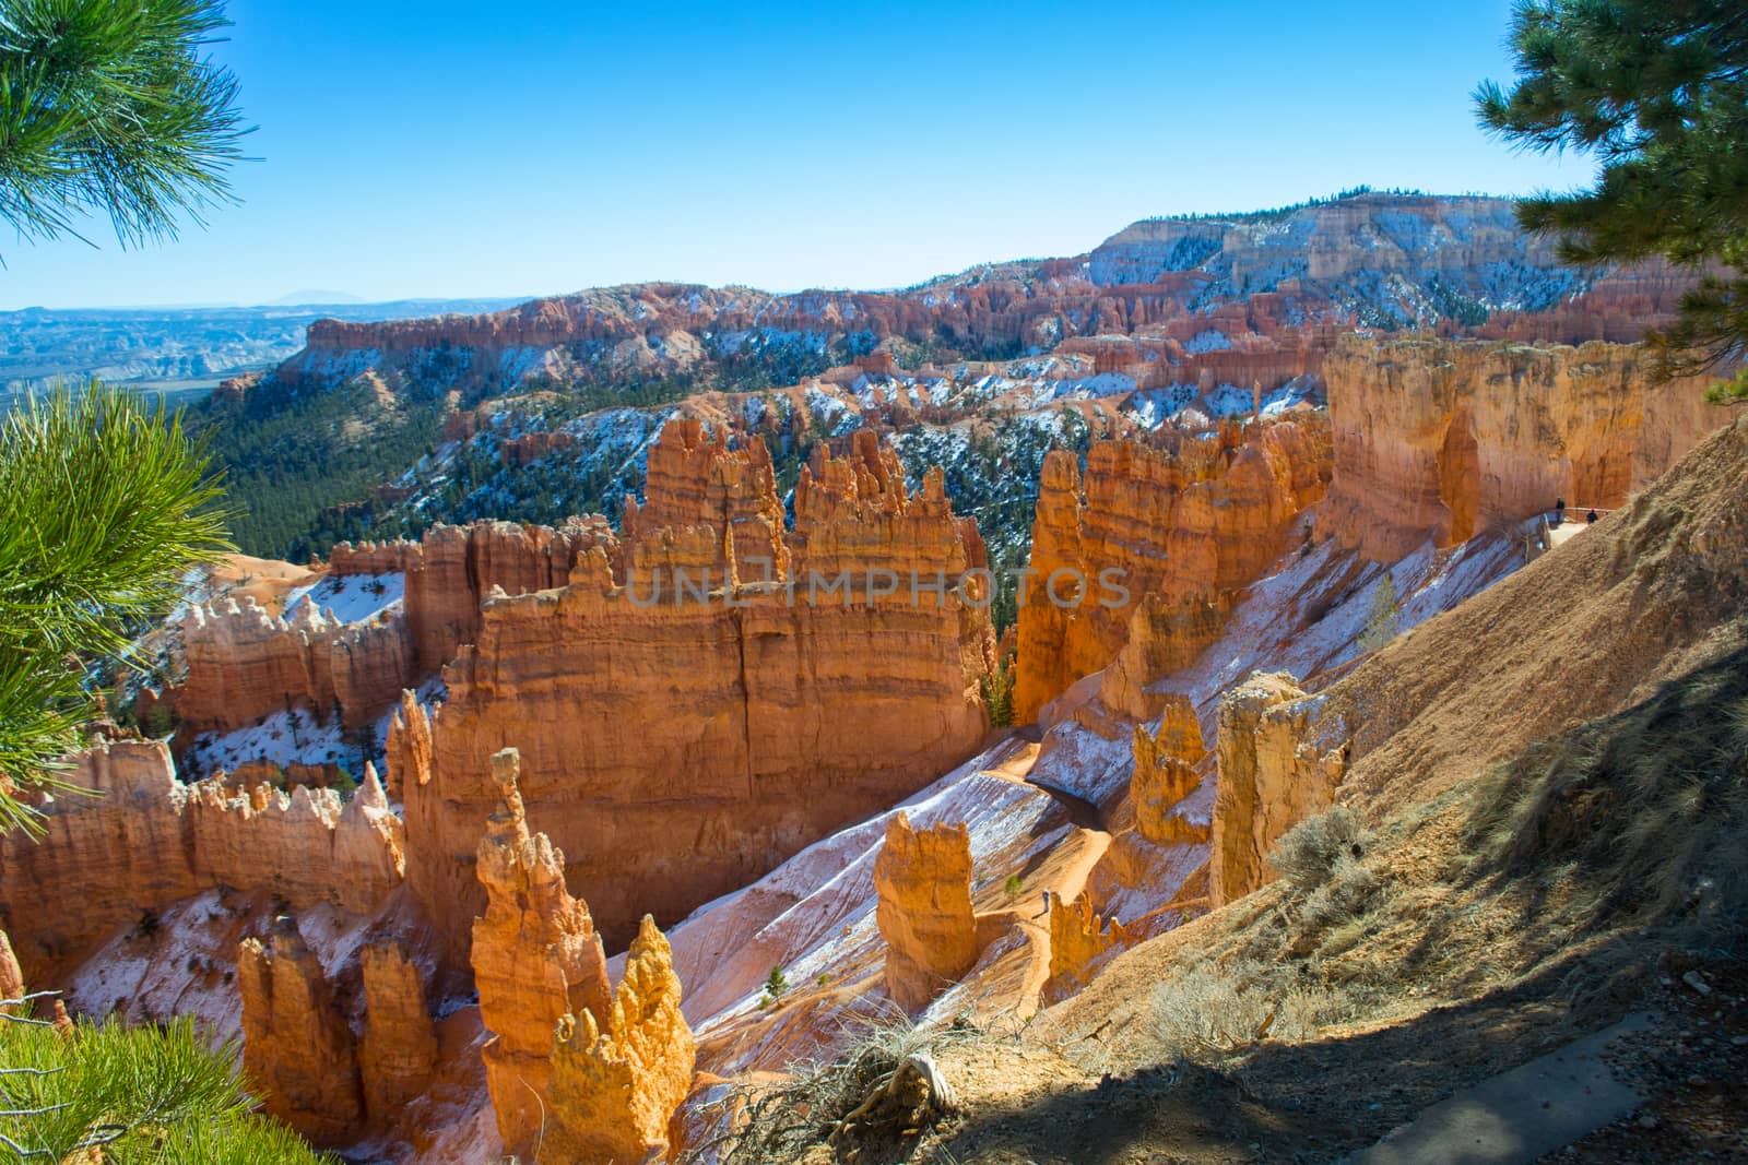
<svg viewBox="0 0 1748 1165">
<path fill-rule="evenodd" d="M 404 709 L 390 734 L 409 882 L 456 964 L 498 800 L 482 774 L 503 744 L 521 749 L 528 812 L 572 856 L 617 947 L 643 913 L 680 919 L 745 886 L 982 739 L 986 613 L 951 592 L 911 601 L 912 569 L 949 589 L 975 552 L 939 479 L 912 496 L 890 451 L 858 444 L 853 465 L 822 454 L 783 533 L 762 444 L 729 449 L 675 424 L 652 461 L 662 472 L 629 522 L 628 578 L 594 548 L 568 587 L 488 599 L 475 646 L 444 671 L 449 700 L 430 720 Z M 687 526 L 652 524 L 694 508 Z M 766 578 L 748 561 L 766 547 L 788 555 L 788 575 L 746 582 Z M 722 569 L 701 596 L 675 585 L 676 569 L 697 583 L 731 554 L 739 585 Z"/>
</svg>

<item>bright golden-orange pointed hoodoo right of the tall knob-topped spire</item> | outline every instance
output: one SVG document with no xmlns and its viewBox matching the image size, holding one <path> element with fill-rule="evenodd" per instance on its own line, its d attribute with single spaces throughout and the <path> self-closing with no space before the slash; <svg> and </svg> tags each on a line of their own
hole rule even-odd
<svg viewBox="0 0 1748 1165">
<path fill-rule="evenodd" d="M 538 1160 L 643 1162 L 664 1155 L 696 1058 L 692 1029 L 680 1015 L 673 950 L 643 915 L 607 1022 L 580 1011 L 558 1024 L 552 1123 Z"/>
</svg>

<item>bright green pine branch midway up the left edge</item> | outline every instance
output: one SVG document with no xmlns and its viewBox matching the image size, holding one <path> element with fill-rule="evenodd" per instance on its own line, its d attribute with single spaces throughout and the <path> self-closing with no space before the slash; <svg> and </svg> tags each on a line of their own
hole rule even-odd
<svg viewBox="0 0 1748 1165">
<path fill-rule="evenodd" d="M 0 788 L 52 784 L 89 711 L 84 660 L 128 650 L 229 550 L 220 484 L 163 405 L 96 383 L 0 426 Z M 35 816 L 0 793 L 0 826 Z"/>
</svg>

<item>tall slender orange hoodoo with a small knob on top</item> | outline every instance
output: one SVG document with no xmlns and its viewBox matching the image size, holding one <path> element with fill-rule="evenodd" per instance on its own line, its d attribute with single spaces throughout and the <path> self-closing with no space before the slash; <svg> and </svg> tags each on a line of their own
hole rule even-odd
<svg viewBox="0 0 1748 1165">
<path fill-rule="evenodd" d="M 563 1017 L 608 1015 L 607 957 L 589 906 L 565 891 L 565 854 L 530 833 L 516 749 L 491 758 L 498 812 L 479 842 L 486 910 L 474 919 L 479 1015 L 491 1107 L 510 1153 L 537 1141 L 552 1078 L 552 1031 Z"/>
</svg>

